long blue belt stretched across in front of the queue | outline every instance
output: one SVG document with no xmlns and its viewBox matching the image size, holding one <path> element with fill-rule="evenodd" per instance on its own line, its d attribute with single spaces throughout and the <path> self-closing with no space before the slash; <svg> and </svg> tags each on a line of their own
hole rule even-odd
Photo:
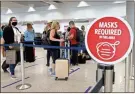
<svg viewBox="0 0 135 94">
<path fill-rule="evenodd" d="M 0 44 L 0 46 L 20 46 L 20 44 Z M 47 46 L 47 45 L 32 45 L 32 44 L 23 44 L 27 47 L 39 47 L 39 48 L 49 48 L 49 49 L 71 49 L 71 50 L 86 50 L 85 47 L 62 47 L 62 46 Z"/>
</svg>

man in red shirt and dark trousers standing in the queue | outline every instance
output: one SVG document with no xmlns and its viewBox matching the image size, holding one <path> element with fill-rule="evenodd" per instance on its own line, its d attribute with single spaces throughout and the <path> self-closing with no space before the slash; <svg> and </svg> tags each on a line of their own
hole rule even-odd
<svg viewBox="0 0 135 94">
<path fill-rule="evenodd" d="M 73 21 L 69 22 L 69 26 L 70 26 L 70 34 L 68 39 L 70 40 L 71 43 L 71 47 L 77 47 L 78 46 L 78 42 L 76 40 L 76 35 L 77 35 L 77 28 L 75 26 L 75 23 Z M 71 50 L 71 64 L 73 66 L 78 65 L 78 51 L 77 50 Z"/>
</svg>

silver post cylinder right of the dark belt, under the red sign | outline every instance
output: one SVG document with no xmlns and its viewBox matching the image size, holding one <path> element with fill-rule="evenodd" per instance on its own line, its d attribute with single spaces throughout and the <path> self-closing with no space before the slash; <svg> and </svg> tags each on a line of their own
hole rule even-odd
<svg viewBox="0 0 135 94">
<path fill-rule="evenodd" d="M 107 65 L 105 66 L 104 72 L 104 92 L 111 93 L 113 91 L 114 83 L 114 66 Z"/>
</svg>

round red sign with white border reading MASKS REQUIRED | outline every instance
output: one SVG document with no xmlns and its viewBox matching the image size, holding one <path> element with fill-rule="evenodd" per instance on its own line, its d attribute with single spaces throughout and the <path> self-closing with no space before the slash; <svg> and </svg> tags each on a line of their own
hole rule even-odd
<svg viewBox="0 0 135 94">
<path fill-rule="evenodd" d="M 93 21 L 86 33 L 85 44 L 98 63 L 115 64 L 124 60 L 133 46 L 133 32 L 122 18 L 102 17 Z"/>
</svg>

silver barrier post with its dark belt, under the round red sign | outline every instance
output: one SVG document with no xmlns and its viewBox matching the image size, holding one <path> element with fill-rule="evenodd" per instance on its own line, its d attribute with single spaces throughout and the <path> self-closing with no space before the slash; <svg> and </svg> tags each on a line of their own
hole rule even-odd
<svg viewBox="0 0 135 94">
<path fill-rule="evenodd" d="M 90 93 L 112 92 L 112 85 L 115 82 L 114 66 L 103 66 L 99 64 L 96 76 L 97 83 L 90 89 Z M 104 91 L 102 90 L 103 86 Z"/>
</svg>

